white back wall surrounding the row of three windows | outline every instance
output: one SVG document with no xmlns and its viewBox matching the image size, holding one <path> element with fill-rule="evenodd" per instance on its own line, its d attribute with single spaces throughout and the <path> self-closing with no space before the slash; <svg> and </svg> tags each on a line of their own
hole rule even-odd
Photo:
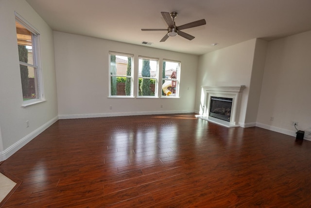
<svg viewBox="0 0 311 208">
<path fill-rule="evenodd" d="M 194 111 L 198 56 L 55 31 L 54 46 L 60 118 Z M 109 51 L 134 54 L 135 77 L 138 55 L 159 58 L 160 69 L 163 58 L 181 61 L 180 98 L 108 98 Z"/>
</svg>

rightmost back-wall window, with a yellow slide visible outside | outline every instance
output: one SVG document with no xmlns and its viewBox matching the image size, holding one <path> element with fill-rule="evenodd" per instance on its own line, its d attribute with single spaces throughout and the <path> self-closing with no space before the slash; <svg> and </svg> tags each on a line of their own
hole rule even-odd
<svg viewBox="0 0 311 208">
<path fill-rule="evenodd" d="M 178 97 L 180 62 L 163 60 L 162 96 Z"/>
</svg>

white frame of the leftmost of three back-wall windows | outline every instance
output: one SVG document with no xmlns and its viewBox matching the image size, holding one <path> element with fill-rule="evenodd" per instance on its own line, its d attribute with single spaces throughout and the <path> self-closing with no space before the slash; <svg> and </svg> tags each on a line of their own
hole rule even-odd
<svg viewBox="0 0 311 208">
<path fill-rule="evenodd" d="M 123 57 L 131 57 L 131 76 L 127 75 L 112 75 L 111 74 L 111 55 L 115 56 L 123 56 Z M 134 97 L 134 54 L 126 54 L 126 53 L 121 53 L 121 52 L 114 52 L 114 51 L 109 51 L 108 53 L 108 60 L 109 60 L 109 96 L 108 97 L 122 97 L 122 98 L 133 98 Z M 131 95 L 111 95 L 111 77 L 125 77 L 125 78 L 131 78 Z"/>
</svg>

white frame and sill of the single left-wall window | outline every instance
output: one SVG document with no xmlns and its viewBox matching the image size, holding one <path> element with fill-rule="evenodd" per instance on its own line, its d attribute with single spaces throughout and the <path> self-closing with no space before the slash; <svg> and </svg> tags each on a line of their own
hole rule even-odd
<svg viewBox="0 0 311 208">
<path fill-rule="evenodd" d="M 43 72 L 42 72 L 41 53 L 40 53 L 40 32 L 33 25 L 31 25 L 26 19 L 22 18 L 17 12 L 15 12 L 15 21 L 21 24 L 23 27 L 25 27 L 29 32 L 31 32 L 32 35 L 32 51 L 33 51 L 32 53 L 34 63 L 29 64 L 23 61 L 19 61 L 19 68 L 20 65 L 34 68 L 35 93 L 37 97 L 34 99 L 23 100 L 22 107 L 27 107 L 46 101 L 43 89 Z"/>
</svg>

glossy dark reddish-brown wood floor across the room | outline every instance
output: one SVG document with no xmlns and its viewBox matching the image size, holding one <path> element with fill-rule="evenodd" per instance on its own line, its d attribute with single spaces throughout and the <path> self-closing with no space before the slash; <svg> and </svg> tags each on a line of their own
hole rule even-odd
<svg viewBox="0 0 311 208">
<path fill-rule="evenodd" d="M 310 141 L 193 113 L 59 120 L 0 170 L 3 208 L 311 206 Z"/>
</svg>

